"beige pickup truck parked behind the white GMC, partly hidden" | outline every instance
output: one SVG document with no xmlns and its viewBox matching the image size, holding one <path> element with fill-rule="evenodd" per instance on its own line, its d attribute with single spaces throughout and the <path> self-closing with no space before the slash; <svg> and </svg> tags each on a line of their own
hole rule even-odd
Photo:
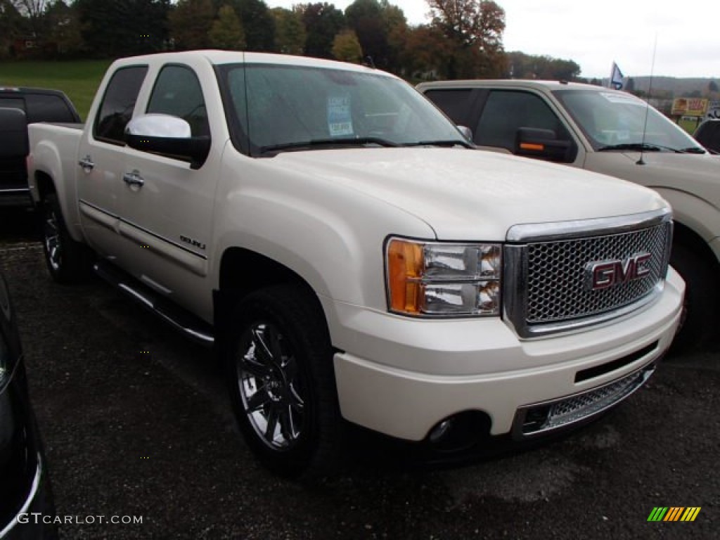
<svg viewBox="0 0 720 540">
<path fill-rule="evenodd" d="M 718 348 L 720 160 L 626 92 L 564 81 L 441 81 L 425 94 L 482 149 L 636 182 L 672 206 L 670 264 L 688 284 L 678 348 Z"/>
</svg>

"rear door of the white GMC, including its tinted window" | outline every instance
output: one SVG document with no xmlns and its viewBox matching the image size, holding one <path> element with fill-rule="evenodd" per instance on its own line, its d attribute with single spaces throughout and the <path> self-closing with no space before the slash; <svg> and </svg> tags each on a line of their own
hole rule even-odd
<svg viewBox="0 0 720 540">
<path fill-rule="evenodd" d="M 124 132 L 130 122 L 148 66 L 127 66 L 112 74 L 95 115 L 83 132 L 76 168 L 81 225 L 91 246 L 113 261 L 119 258 L 120 195 L 124 187 Z"/>
</svg>

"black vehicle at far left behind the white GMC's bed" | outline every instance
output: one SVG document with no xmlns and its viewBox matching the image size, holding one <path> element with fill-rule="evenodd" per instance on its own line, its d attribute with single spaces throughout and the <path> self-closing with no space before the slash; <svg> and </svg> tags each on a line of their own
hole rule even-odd
<svg viewBox="0 0 720 540">
<path fill-rule="evenodd" d="M 27 124 L 80 122 L 63 92 L 0 86 L 0 205 L 30 205 L 27 187 Z"/>
</svg>

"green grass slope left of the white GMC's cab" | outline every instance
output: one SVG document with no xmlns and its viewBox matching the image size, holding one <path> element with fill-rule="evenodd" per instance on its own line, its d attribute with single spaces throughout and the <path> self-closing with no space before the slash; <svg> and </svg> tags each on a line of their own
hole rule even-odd
<svg viewBox="0 0 720 540">
<path fill-rule="evenodd" d="M 40 86 L 62 90 L 87 118 L 95 91 L 112 60 L 0 62 L 0 86 Z"/>
</svg>

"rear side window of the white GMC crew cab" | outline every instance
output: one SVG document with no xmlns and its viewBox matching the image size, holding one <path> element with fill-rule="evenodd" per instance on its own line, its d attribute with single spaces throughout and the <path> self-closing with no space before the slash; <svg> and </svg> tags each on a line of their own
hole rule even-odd
<svg viewBox="0 0 720 540">
<path fill-rule="evenodd" d="M 125 144 L 123 132 L 132 118 L 147 66 L 120 68 L 110 79 L 95 118 L 93 135 L 108 143 Z"/>
</svg>

